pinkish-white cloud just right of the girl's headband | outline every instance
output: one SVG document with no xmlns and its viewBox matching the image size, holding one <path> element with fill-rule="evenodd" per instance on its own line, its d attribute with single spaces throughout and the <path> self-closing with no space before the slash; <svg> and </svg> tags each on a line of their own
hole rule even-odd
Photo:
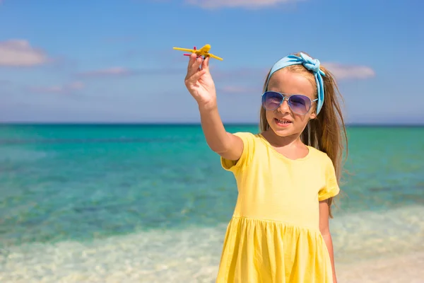
<svg viewBox="0 0 424 283">
<path fill-rule="evenodd" d="M 336 79 L 368 79 L 375 76 L 375 71 L 366 66 L 343 65 L 338 63 L 326 63 L 324 67 L 329 69 Z"/>
</svg>

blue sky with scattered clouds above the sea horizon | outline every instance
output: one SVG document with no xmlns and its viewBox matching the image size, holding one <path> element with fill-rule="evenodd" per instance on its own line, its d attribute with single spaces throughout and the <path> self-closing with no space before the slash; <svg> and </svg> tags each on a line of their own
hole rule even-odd
<svg viewBox="0 0 424 283">
<path fill-rule="evenodd" d="M 198 123 L 188 57 L 211 45 L 223 122 L 259 122 L 272 65 L 307 52 L 348 124 L 424 124 L 419 0 L 0 0 L 0 122 Z"/>
</svg>

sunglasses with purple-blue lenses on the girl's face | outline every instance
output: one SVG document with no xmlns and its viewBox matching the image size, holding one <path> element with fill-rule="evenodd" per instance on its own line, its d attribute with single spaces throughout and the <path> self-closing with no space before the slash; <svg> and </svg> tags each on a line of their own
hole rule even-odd
<svg viewBox="0 0 424 283">
<path fill-rule="evenodd" d="M 283 93 L 278 93 L 277 91 L 266 91 L 262 94 L 262 106 L 265 110 L 276 110 L 280 107 L 283 101 L 287 99 L 287 104 L 293 112 L 300 115 L 305 115 L 311 109 L 313 101 L 307 96 L 302 94 L 293 94 L 291 96 L 283 96 Z"/>
</svg>

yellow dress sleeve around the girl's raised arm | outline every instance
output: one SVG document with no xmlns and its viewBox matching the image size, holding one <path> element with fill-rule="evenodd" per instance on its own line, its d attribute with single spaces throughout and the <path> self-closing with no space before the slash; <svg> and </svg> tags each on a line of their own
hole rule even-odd
<svg viewBox="0 0 424 283">
<path fill-rule="evenodd" d="M 243 141 L 242 155 L 238 160 L 234 161 L 223 158 L 222 156 L 220 157 L 221 166 L 226 171 L 231 171 L 232 173 L 245 168 L 252 159 L 254 153 L 254 134 L 250 132 L 236 132 L 234 135 L 240 137 Z"/>
</svg>

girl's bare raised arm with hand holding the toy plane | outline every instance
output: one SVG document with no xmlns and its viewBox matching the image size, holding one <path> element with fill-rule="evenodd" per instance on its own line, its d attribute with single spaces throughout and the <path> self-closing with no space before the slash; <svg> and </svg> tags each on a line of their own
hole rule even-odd
<svg viewBox="0 0 424 283">
<path fill-rule="evenodd" d="M 203 60 L 196 58 L 196 54 L 190 56 L 185 85 L 199 105 L 201 127 L 208 146 L 223 158 L 239 159 L 243 142 L 240 137 L 227 132 L 220 119 L 216 88 L 209 71 L 209 57 Z"/>
</svg>

